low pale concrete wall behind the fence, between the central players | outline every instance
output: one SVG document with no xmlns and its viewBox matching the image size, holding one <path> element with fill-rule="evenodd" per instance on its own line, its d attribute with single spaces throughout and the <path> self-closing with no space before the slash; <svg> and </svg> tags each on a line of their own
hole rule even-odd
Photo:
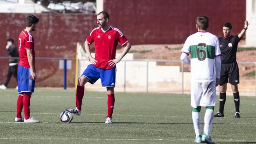
<svg viewBox="0 0 256 144">
<path fill-rule="evenodd" d="M 95 54 L 93 53 L 92 56 Z M 118 57 L 120 54 L 117 54 Z M 123 60 L 133 60 L 133 54 L 127 54 Z M 87 59 L 86 55 L 79 57 Z M 88 60 L 79 60 L 79 73 L 80 76 L 85 68 L 91 64 Z M 126 73 L 126 74 L 125 74 Z M 146 61 L 127 61 L 126 68 L 125 62 L 120 61 L 117 64 L 116 73 L 116 88 L 117 91 L 140 91 L 146 92 L 147 90 L 147 77 L 148 77 L 148 91 L 149 92 L 173 92 L 181 93 L 182 90 L 182 73 L 179 66 L 163 66 L 157 65 L 156 62 L 149 62 L 148 76 L 147 76 L 147 62 Z M 101 87 L 100 79 L 93 85 L 86 84 L 86 89 L 89 90 L 106 90 Z M 190 72 L 184 72 L 184 90 L 190 90 Z"/>
</svg>

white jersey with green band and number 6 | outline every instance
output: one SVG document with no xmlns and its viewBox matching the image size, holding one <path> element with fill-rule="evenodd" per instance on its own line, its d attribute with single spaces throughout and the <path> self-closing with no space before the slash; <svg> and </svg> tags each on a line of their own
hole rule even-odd
<svg viewBox="0 0 256 144">
<path fill-rule="evenodd" d="M 214 58 L 221 54 L 219 40 L 209 32 L 197 32 L 190 35 L 181 50 L 191 54 L 191 80 L 197 83 L 215 81 Z"/>
</svg>

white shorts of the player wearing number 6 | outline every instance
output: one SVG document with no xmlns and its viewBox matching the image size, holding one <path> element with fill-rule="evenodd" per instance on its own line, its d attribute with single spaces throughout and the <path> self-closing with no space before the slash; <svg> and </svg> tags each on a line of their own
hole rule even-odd
<svg viewBox="0 0 256 144">
<path fill-rule="evenodd" d="M 191 82 L 191 106 L 215 106 L 216 81 L 207 83 Z"/>
</svg>

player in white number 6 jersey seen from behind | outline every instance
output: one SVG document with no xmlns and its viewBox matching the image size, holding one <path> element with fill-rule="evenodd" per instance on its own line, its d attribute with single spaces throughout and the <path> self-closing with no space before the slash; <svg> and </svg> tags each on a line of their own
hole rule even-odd
<svg viewBox="0 0 256 144">
<path fill-rule="evenodd" d="M 218 38 L 207 32 L 209 18 L 196 18 L 197 33 L 190 35 L 182 48 L 181 60 L 191 65 L 191 106 L 195 129 L 195 143 L 214 143 L 209 136 L 214 118 L 216 86 L 221 71 L 220 47 Z M 188 55 L 191 54 L 191 59 Z M 206 107 L 204 130 L 200 134 L 201 106 Z"/>
</svg>

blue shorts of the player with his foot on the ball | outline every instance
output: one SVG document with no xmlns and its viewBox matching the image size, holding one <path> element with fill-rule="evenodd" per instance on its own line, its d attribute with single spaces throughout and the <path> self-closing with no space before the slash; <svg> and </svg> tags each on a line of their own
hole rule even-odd
<svg viewBox="0 0 256 144">
<path fill-rule="evenodd" d="M 100 79 L 102 87 L 115 87 L 116 68 L 105 70 L 90 64 L 82 76 L 88 78 L 91 84 Z"/>
</svg>

